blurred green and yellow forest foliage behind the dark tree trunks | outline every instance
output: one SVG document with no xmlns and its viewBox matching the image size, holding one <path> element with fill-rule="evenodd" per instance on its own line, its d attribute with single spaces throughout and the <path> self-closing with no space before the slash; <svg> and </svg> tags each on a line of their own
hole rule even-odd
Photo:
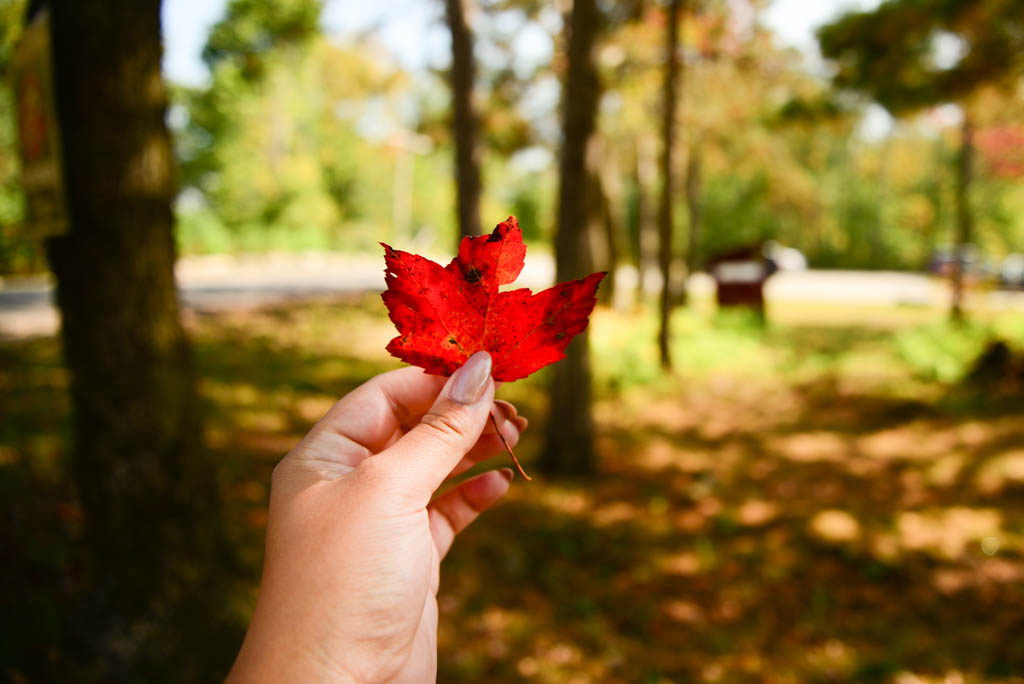
<svg viewBox="0 0 1024 684">
<path fill-rule="evenodd" d="M 6 3 L 8 16 L 18 4 Z M 674 197 L 676 244 L 698 220 L 697 264 L 771 239 L 812 267 L 926 268 L 953 243 L 958 108 L 887 124 L 868 97 L 831 90 L 827 65 L 781 44 L 759 20 L 765 8 L 705 2 L 686 11 L 676 163 L 688 180 Z M 617 233 L 604 258 L 623 262 L 653 258 L 635 252 L 654 220 L 665 59 L 664 11 L 630 11 L 612 18 L 598 47 L 594 161 Z M 172 84 L 181 252 L 372 252 L 381 239 L 450 249 L 458 228 L 445 52 L 411 70 L 373 29 L 326 36 L 317 3 L 242 3 L 233 13 L 207 40 L 208 82 Z M 440 5 L 436 13 L 440 25 Z M 561 12 L 486 2 L 472 23 L 481 215 L 515 214 L 539 249 L 555 221 Z M 17 22 L 5 30 L 9 56 Z M 948 61 L 957 49 L 945 34 L 930 58 Z M 0 98 L 9 104 L 5 88 Z M 1022 105 L 1019 93 L 990 88 L 972 106 L 980 112 L 973 242 L 997 262 L 1024 250 Z M 13 127 L 12 109 L 0 108 L 0 270 L 24 272 L 43 261 L 17 227 Z"/>
</svg>

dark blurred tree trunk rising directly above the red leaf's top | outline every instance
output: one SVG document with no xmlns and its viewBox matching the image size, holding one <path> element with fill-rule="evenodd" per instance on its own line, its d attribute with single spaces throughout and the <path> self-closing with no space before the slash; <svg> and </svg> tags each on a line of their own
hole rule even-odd
<svg viewBox="0 0 1024 684">
<path fill-rule="evenodd" d="M 480 156 L 477 148 L 477 120 L 473 110 L 473 34 L 466 23 L 464 2 L 444 0 L 444 14 L 452 32 L 453 133 L 455 137 L 456 211 L 459 241 L 480 234 Z"/>
</svg>

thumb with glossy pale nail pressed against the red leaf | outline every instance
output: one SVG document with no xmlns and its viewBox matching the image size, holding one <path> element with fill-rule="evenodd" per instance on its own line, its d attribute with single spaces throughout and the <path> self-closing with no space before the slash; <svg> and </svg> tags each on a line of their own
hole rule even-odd
<svg viewBox="0 0 1024 684">
<path fill-rule="evenodd" d="M 490 354 L 478 351 L 449 378 L 420 424 L 373 460 L 426 504 L 480 437 L 494 399 Z"/>
</svg>

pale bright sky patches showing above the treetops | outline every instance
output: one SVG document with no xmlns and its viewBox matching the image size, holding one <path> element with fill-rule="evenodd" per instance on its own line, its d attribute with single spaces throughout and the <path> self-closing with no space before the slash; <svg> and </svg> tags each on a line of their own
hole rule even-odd
<svg viewBox="0 0 1024 684">
<path fill-rule="evenodd" d="M 164 73 L 176 83 L 200 85 L 207 78 L 200 54 L 206 36 L 224 12 L 227 0 L 164 0 Z M 775 0 L 762 22 L 783 44 L 817 54 L 814 30 L 849 9 L 871 8 L 879 0 Z M 441 3 L 431 0 L 327 0 L 324 12 L 329 35 L 374 31 L 407 69 L 431 63 L 445 48 L 440 25 Z"/>
</svg>

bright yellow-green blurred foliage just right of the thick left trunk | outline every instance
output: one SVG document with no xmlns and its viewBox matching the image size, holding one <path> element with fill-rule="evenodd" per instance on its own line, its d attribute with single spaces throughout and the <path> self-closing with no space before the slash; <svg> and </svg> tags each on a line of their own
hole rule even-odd
<svg viewBox="0 0 1024 684">
<path fill-rule="evenodd" d="M 391 219 L 409 153 L 358 129 L 397 118 L 404 76 L 372 46 L 326 41 L 318 15 L 318 2 L 231 3 L 204 52 L 210 86 L 177 91 L 186 250 L 360 247 L 379 239 L 360 228 Z"/>
</svg>

